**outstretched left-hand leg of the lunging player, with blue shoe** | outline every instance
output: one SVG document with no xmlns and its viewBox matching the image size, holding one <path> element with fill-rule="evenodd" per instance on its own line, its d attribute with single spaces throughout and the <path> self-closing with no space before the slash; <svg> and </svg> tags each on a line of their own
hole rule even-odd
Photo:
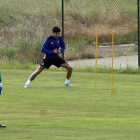
<svg viewBox="0 0 140 140">
<path fill-rule="evenodd" d="M 27 88 L 31 81 L 33 81 L 38 74 L 44 70 L 44 66 L 39 66 L 37 70 L 29 77 L 28 81 L 25 83 L 24 88 Z"/>
</svg>

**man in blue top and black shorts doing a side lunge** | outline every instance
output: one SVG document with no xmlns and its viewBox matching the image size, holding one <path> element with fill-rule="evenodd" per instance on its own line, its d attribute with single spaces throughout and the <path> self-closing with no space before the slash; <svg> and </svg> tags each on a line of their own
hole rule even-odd
<svg viewBox="0 0 140 140">
<path fill-rule="evenodd" d="M 53 34 L 44 41 L 44 44 L 41 48 L 41 52 L 44 53 L 44 59 L 38 69 L 29 77 L 28 81 L 24 85 L 24 88 L 27 88 L 30 82 L 33 81 L 35 77 L 44 70 L 44 68 L 49 69 L 51 65 L 54 65 L 58 68 L 64 67 L 67 69 L 65 86 L 72 87 L 72 85 L 69 83 L 69 80 L 73 68 L 59 56 L 59 54 L 63 53 L 65 50 L 64 40 L 62 37 L 60 37 L 61 30 L 58 26 L 55 26 L 52 29 L 52 32 Z"/>
</svg>

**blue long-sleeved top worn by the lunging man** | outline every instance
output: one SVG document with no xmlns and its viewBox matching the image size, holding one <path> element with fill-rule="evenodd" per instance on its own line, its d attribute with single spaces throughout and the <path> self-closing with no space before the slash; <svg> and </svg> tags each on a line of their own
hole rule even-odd
<svg viewBox="0 0 140 140">
<path fill-rule="evenodd" d="M 61 53 L 65 50 L 65 43 L 62 37 L 55 38 L 53 35 L 48 37 L 41 48 L 41 52 L 45 54 L 44 59 L 54 59 L 59 57 L 57 53 L 54 53 L 54 49 L 59 49 L 61 47 L 60 51 Z"/>
</svg>

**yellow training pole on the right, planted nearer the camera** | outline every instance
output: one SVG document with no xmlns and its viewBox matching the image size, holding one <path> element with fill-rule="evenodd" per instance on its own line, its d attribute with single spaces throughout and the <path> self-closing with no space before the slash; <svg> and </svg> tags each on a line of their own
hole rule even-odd
<svg viewBox="0 0 140 140">
<path fill-rule="evenodd" d="M 114 61 L 114 30 L 112 31 L 112 78 L 111 78 L 111 98 L 113 94 L 113 61 Z"/>
</svg>

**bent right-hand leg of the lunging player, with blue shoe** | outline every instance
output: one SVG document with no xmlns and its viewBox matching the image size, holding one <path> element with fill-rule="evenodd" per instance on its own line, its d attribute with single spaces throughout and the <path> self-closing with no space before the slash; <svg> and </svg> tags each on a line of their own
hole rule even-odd
<svg viewBox="0 0 140 140">
<path fill-rule="evenodd" d="M 65 86 L 70 86 L 70 87 L 72 87 L 72 85 L 69 83 L 69 81 L 70 81 L 70 77 L 71 77 L 73 68 L 72 68 L 68 63 L 63 63 L 63 64 L 61 64 L 60 66 L 67 69 Z"/>
</svg>

